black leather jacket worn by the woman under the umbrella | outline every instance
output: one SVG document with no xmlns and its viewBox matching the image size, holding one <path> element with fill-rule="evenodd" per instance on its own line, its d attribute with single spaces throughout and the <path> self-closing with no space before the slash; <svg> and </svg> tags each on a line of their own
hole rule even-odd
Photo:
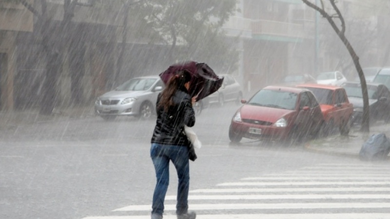
<svg viewBox="0 0 390 219">
<path fill-rule="evenodd" d="M 174 105 L 168 112 L 159 107 L 161 93 L 156 102 L 157 121 L 153 132 L 152 143 L 189 146 L 191 142 L 183 133 L 184 125 L 195 125 L 195 112 L 192 108 L 191 97 L 185 87 L 176 90 L 173 96 Z"/>
</svg>

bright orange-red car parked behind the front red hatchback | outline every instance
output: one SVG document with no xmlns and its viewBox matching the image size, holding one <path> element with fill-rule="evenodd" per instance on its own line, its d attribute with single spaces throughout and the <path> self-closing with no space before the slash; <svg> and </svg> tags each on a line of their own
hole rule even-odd
<svg viewBox="0 0 390 219">
<path fill-rule="evenodd" d="M 349 102 L 343 87 L 324 84 L 300 84 L 297 87 L 312 91 L 320 103 L 325 119 L 325 134 L 331 134 L 334 128 L 338 128 L 341 135 L 349 134 L 353 104 Z"/>
</svg>

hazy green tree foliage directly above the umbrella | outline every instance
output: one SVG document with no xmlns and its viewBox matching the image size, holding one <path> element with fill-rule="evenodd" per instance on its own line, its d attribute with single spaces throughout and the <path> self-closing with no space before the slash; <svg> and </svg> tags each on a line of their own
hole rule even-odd
<svg viewBox="0 0 390 219">
<path fill-rule="evenodd" d="M 238 53 L 232 50 L 222 25 L 237 11 L 236 0 L 147 0 L 137 10 L 158 33 L 158 40 L 175 48 L 173 60 L 195 60 L 234 70 Z M 155 41 L 156 43 L 156 41 Z"/>
</svg>

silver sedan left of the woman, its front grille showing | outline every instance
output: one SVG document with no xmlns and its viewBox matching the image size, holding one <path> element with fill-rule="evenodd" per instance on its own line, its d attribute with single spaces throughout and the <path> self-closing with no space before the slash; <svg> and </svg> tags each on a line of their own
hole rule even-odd
<svg viewBox="0 0 390 219">
<path fill-rule="evenodd" d="M 126 81 L 95 101 L 95 113 L 105 120 L 117 116 L 149 118 L 155 114 L 157 95 L 165 85 L 159 76 L 138 77 Z"/>
</svg>

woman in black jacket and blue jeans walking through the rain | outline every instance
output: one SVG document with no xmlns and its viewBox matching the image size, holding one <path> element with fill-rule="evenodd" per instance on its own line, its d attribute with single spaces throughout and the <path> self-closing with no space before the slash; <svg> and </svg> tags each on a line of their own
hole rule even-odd
<svg viewBox="0 0 390 219">
<path fill-rule="evenodd" d="M 188 212 L 188 191 L 190 185 L 189 145 L 184 134 L 184 125 L 195 124 L 193 105 L 188 89 L 191 74 L 178 71 L 158 95 L 156 103 L 157 121 L 151 140 L 150 156 L 156 170 L 156 188 L 153 194 L 152 219 L 162 219 L 164 199 L 169 184 L 169 162 L 175 165 L 177 188 L 177 219 L 195 219 L 195 212 Z"/>
</svg>

